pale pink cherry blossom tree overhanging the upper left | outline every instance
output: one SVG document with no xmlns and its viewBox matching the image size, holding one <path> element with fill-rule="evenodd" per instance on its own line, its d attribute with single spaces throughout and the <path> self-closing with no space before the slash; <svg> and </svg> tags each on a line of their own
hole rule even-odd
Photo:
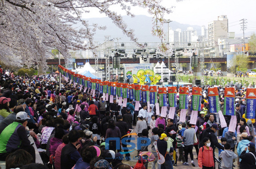
<svg viewBox="0 0 256 169">
<path fill-rule="evenodd" d="M 152 34 L 163 39 L 164 15 L 171 9 L 159 4 L 160 0 L 0 0 L 0 60 L 28 67 L 37 62 L 46 70 L 46 59 L 53 48 L 59 50 L 66 62 L 70 58 L 70 49 L 92 50 L 96 55 L 93 36 L 96 29 L 105 27 L 89 26 L 81 18 L 83 13 L 90 15 L 89 9 L 106 14 L 131 41 L 143 47 L 133 30 L 127 29 L 122 16 L 110 8 L 120 5 L 132 17 L 132 6 L 147 8 L 152 15 Z M 80 29 L 72 27 L 79 22 L 82 24 Z M 85 40 L 87 44 L 84 44 Z M 160 50 L 168 51 L 165 43 L 162 42 Z"/>
</svg>

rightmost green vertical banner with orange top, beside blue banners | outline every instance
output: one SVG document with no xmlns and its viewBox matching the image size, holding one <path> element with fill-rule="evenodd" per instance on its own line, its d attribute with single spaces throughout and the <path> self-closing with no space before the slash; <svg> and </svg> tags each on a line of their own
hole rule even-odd
<svg viewBox="0 0 256 169">
<path fill-rule="evenodd" d="M 201 97 L 202 97 L 202 88 L 201 87 L 192 87 L 191 110 L 194 110 L 194 111 L 201 110 Z"/>
</svg>

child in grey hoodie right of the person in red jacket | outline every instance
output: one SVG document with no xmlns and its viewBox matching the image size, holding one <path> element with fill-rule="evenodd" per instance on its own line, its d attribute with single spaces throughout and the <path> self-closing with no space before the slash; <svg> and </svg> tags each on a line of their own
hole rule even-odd
<svg viewBox="0 0 256 169">
<path fill-rule="evenodd" d="M 230 150 L 231 146 L 229 143 L 224 144 L 224 151 L 222 151 L 219 155 L 221 158 L 221 169 L 231 169 L 233 164 L 233 159 L 236 159 L 238 156 Z"/>
</svg>

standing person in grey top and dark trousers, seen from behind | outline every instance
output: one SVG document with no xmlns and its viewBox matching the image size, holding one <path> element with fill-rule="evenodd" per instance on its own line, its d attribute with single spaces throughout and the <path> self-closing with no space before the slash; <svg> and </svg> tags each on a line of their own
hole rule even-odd
<svg viewBox="0 0 256 169">
<path fill-rule="evenodd" d="M 193 145 L 194 145 L 194 135 L 195 129 L 191 128 L 192 124 L 187 122 L 187 129 L 184 131 L 184 152 L 186 162 L 183 165 L 188 165 L 188 154 L 190 154 L 191 164 L 195 167 L 194 157 L 193 157 Z"/>
</svg>

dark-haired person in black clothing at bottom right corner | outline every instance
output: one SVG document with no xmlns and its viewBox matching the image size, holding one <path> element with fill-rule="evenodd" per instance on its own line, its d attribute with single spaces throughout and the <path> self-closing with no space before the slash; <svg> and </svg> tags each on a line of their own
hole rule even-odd
<svg viewBox="0 0 256 169">
<path fill-rule="evenodd" d="M 242 159 L 240 164 L 240 169 L 255 169 L 256 168 L 256 152 L 255 143 L 248 143 L 245 150 L 240 154 L 240 159 Z M 246 153 L 248 152 L 248 153 Z"/>
</svg>

